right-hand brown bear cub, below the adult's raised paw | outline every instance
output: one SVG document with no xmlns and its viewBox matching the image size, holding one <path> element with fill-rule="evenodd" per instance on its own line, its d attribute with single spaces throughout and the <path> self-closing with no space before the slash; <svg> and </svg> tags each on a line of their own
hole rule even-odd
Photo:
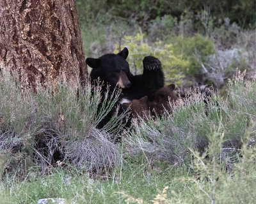
<svg viewBox="0 0 256 204">
<path fill-rule="evenodd" d="M 154 93 L 154 101 L 148 102 L 151 112 L 156 116 L 164 114 L 164 110 L 171 111 L 170 103 L 178 99 L 173 92 L 175 84 L 166 85 Z"/>
</svg>

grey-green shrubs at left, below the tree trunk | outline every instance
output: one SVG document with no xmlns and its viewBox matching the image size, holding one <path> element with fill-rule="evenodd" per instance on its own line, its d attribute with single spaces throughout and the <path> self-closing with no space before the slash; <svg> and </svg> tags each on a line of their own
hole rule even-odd
<svg viewBox="0 0 256 204">
<path fill-rule="evenodd" d="M 38 85 L 31 91 L 21 89 L 19 82 L 2 71 L 1 175 L 16 171 L 24 176 L 30 168 L 47 173 L 67 164 L 90 173 L 106 173 L 120 161 L 114 138 L 124 115 L 115 115 L 115 122 L 112 119 L 104 129 L 96 127 L 113 108 L 118 94 L 107 92 L 101 98 L 100 85 L 90 83 L 83 88 L 60 84 L 57 91 Z M 103 105 L 98 108 L 100 101 Z"/>
</svg>

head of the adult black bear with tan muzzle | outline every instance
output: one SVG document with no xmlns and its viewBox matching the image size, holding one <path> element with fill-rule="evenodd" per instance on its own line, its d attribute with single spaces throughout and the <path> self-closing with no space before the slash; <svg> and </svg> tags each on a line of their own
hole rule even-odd
<svg viewBox="0 0 256 204">
<path fill-rule="evenodd" d="M 111 87 L 117 85 L 122 89 L 129 88 L 131 85 L 129 75 L 131 73 L 126 61 L 128 54 L 129 51 L 125 47 L 118 54 L 106 54 L 97 59 L 88 57 L 86 64 L 92 68 L 90 77 L 92 80 L 100 78 L 101 82 L 107 82 Z"/>
</svg>

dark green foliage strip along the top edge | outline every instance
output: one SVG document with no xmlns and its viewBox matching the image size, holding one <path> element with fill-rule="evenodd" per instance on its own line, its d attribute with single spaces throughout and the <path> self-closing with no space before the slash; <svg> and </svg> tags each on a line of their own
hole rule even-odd
<svg viewBox="0 0 256 204">
<path fill-rule="evenodd" d="M 83 20 L 95 19 L 99 17 L 99 13 L 109 13 L 122 18 L 136 18 L 141 25 L 147 24 L 143 21 L 154 20 L 164 15 L 172 15 L 177 19 L 182 18 L 186 13 L 197 15 L 204 9 L 211 13 L 215 25 L 220 24 L 221 19 L 228 17 L 232 23 L 250 27 L 256 19 L 254 0 L 182 0 L 179 2 L 174 0 L 79 0 L 77 5 Z M 193 19 L 193 25 L 198 29 L 198 19 Z"/>
</svg>

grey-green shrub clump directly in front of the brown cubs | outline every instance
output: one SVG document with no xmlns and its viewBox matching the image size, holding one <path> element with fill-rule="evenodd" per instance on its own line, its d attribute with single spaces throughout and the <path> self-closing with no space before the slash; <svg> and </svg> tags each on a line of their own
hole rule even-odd
<svg viewBox="0 0 256 204">
<path fill-rule="evenodd" d="M 210 124 L 203 98 L 204 94 L 191 92 L 185 99 L 179 99 L 179 105 L 170 104 L 172 113 L 166 112 L 162 118 L 134 125 L 127 141 L 131 152 L 143 152 L 149 160 L 180 165 L 188 161 L 188 147 L 204 150 Z M 217 112 L 216 108 L 211 111 L 212 114 Z"/>
</svg>

